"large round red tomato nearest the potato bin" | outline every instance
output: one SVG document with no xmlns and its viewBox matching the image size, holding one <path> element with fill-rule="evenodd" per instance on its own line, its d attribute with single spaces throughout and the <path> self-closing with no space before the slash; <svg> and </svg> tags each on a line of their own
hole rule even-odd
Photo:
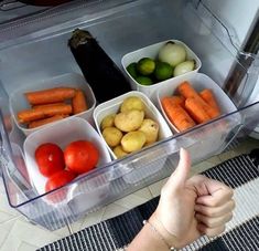
<svg viewBox="0 0 259 251">
<path fill-rule="evenodd" d="M 64 150 L 65 164 L 76 174 L 84 174 L 94 169 L 99 159 L 96 146 L 87 140 L 71 143 Z"/>
</svg>

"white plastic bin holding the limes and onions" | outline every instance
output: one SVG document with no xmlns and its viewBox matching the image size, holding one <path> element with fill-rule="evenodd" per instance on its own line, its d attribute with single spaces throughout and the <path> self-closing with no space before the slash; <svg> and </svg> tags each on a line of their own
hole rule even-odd
<svg viewBox="0 0 259 251">
<path fill-rule="evenodd" d="M 194 60 L 195 61 L 195 67 L 193 71 L 188 72 L 188 73 L 185 73 L 185 74 L 192 74 L 192 73 L 195 73 L 197 72 L 201 66 L 202 66 L 202 62 L 201 60 L 197 57 L 197 55 L 183 42 L 181 41 L 177 41 L 177 40 L 166 40 L 166 41 L 163 41 L 163 42 L 159 42 L 159 43 L 155 43 L 155 44 L 152 44 L 152 45 L 149 45 L 149 46 L 145 46 L 145 48 L 142 48 L 142 49 L 139 49 L 137 51 L 133 51 L 133 52 L 130 52 L 130 53 L 127 53 L 126 55 L 123 55 L 122 60 L 121 60 L 121 64 L 123 66 L 123 70 L 126 72 L 126 75 L 128 76 L 129 81 L 130 81 L 130 84 L 131 84 L 131 87 L 132 90 L 137 90 L 139 92 L 142 92 L 144 93 L 148 97 L 150 97 L 152 101 L 155 98 L 155 90 L 159 88 L 160 86 L 163 86 L 165 83 L 168 83 L 169 81 L 171 80 L 179 80 L 181 79 L 182 76 L 174 76 L 174 77 L 171 77 L 169 80 L 165 80 L 165 81 L 162 81 L 162 82 L 158 82 L 158 83 L 154 83 L 152 85 L 141 85 L 139 84 L 130 74 L 129 72 L 127 71 L 127 66 L 130 64 L 130 63 L 133 63 L 133 62 L 138 62 L 140 59 L 142 57 L 151 57 L 151 59 L 154 59 L 157 60 L 158 59 L 158 54 L 159 54 L 159 50 L 166 43 L 166 42 L 174 42 L 176 44 L 181 44 L 185 48 L 186 50 L 186 60 Z M 184 74 L 184 75 L 185 75 Z"/>
</svg>

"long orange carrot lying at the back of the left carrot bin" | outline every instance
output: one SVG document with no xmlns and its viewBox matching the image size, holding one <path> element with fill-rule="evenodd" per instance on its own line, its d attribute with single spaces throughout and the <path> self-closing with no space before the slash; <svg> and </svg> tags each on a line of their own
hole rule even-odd
<svg viewBox="0 0 259 251">
<path fill-rule="evenodd" d="M 75 90 L 71 87 L 55 87 L 36 92 L 24 93 L 31 105 L 63 102 L 75 96 Z"/>
</svg>

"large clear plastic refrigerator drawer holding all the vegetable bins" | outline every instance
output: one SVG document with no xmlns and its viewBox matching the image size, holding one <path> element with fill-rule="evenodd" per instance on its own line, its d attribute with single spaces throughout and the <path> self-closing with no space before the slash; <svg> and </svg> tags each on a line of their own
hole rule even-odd
<svg viewBox="0 0 259 251">
<path fill-rule="evenodd" d="M 203 62 L 201 71 L 220 87 L 229 79 L 233 64 L 240 65 L 245 87 L 255 85 L 259 73 L 258 56 L 241 50 L 237 52 L 233 48 L 233 36 L 228 35 L 226 27 L 209 12 L 209 8 L 204 6 L 205 1 L 163 0 L 161 3 L 155 0 L 110 0 L 89 3 L 83 1 L 82 6 L 78 2 L 80 1 L 72 1 L 71 4 L 75 8 L 69 11 L 58 12 L 55 9 L 52 14 L 47 12 L 47 17 L 29 17 L 29 20 L 19 20 L 8 28 L 0 27 L 0 81 L 9 98 L 21 85 L 36 84 L 35 80 L 46 80 L 72 71 L 79 73 L 67 48 L 72 30 L 78 27 L 89 29 L 118 65 L 129 51 L 175 38 L 195 51 Z M 212 21 L 213 29 L 209 30 L 203 20 Z M 206 51 L 205 48 L 208 46 L 209 50 Z M 244 64 L 240 59 L 245 57 L 251 60 L 252 64 Z M 109 86 L 101 83 L 100 87 L 105 92 Z M 255 116 L 259 114 L 259 102 L 237 108 L 236 112 L 188 132 L 175 134 L 123 159 L 112 160 L 87 176 L 79 177 L 75 184 L 41 196 L 21 175 L 22 161 L 14 161 L 12 146 L 22 145 L 25 140 L 23 132 L 14 124 L 10 135 L 1 117 L 0 164 L 9 203 L 34 223 L 50 230 L 58 229 L 118 198 L 168 177 L 177 164 L 180 147 L 190 150 L 193 164 L 196 164 L 224 151 L 234 139 L 241 140 L 259 124 L 258 116 Z M 237 115 L 240 116 L 238 122 Z M 225 125 L 223 137 L 223 132 L 218 129 L 220 124 Z M 208 134 L 218 135 L 218 144 L 212 144 Z M 19 157 L 22 158 L 20 155 Z M 162 168 L 137 184 L 129 184 L 123 179 L 147 165 Z M 106 180 L 109 180 L 109 194 L 99 203 L 87 207 L 80 203 L 84 192 L 88 192 L 89 199 L 95 195 L 93 184 L 95 189 L 101 189 L 107 184 Z M 46 203 L 47 196 L 57 196 L 63 189 L 73 187 L 78 188 L 73 194 L 74 198 L 77 197 L 76 200 L 60 207 Z"/>
</svg>

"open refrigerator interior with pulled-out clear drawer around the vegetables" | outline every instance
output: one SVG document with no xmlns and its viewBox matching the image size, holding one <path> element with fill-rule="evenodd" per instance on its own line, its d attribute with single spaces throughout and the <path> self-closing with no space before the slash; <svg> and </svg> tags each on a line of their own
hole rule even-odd
<svg viewBox="0 0 259 251">
<path fill-rule="evenodd" d="M 258 0 L 77 0 L 55 7 L 3 0 L 0 4 L 1 182 L 10 207 L 30 221 L 55 230 L 161 180 L 175 169 L 181 147 L 196 164 L 247 137 L 258 138 Z M 67 73 L 83 77 L 67 44 L 75 29 L 89 31 L 123 74 L 121 60 L 127 53 L 161 41 L 182 41 L 201 60 L 198 72 L 213 80 L 236 109 L 112 159 L 47 195 L 39 194 L 24 160 L 26 135 L 10 116 L 10 96 L 28 84 L 44 86 Z M 99 85 L 104 92 L 109 87 Z M 65 203 L 48 201 L 67 190 L 74 192 Z"/>
</svg>

